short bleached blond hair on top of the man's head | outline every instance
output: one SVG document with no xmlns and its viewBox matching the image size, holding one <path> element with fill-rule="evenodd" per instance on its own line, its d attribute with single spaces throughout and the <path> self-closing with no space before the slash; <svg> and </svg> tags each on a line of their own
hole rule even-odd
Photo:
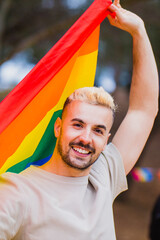
<svg viewBox="0 0 160 240">
<path fill-rule="evenodd" d="M 84 87 L 76 89 L 65 101 L 63 111 L 72 101 L 79 100 L 93 105 L 105 106 L 112 110 L 113 116 L 116 110 L 113 97 L 103 87 Z M 63 113 L 62 111 L 62 113 Z"/>
</svg>

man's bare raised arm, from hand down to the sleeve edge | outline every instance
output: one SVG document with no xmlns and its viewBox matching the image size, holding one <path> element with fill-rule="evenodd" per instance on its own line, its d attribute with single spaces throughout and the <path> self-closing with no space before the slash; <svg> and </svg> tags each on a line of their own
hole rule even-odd
<svg viewBox="0 0 160 240">
<path fill-rule="evenodd" d="M 120 151 L 126 174 L 139 158 L 158 111 L 158 73 L 144 23 L 124 10 L 115 0 L 110 11 L 116 12 L 111 25 L 129 32 L 133 38 L 133 75 L 128 112 L 117 130 L 113 143 Z"/>
</svg>

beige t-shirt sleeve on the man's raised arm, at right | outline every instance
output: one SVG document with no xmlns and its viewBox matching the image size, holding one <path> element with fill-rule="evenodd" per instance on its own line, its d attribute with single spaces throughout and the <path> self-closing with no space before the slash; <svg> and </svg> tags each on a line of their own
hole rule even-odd
<svg viewBox="0 0 160 240">
<path fill-rule="evenodd" d="M 109 143 L 93 165 L 99 180 L 110 187 L 112 200 L 128 189 L 123 160 L 114 144 Z"/>
</svg>

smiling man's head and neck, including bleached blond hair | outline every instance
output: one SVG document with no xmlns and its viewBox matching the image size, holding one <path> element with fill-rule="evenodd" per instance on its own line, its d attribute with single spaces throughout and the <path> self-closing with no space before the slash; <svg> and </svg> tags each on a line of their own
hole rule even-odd
<svg viewBox="0 0 160 240">
<path fill-rule="evenodd" d="M 76 90 L 64 104 L 62 119 L 55 122 L 55 151 L 41 168 L 63 176 L 88 175 L 105 149 L 114 110 L 113 99 L 103 88 Z"/>
</svg>

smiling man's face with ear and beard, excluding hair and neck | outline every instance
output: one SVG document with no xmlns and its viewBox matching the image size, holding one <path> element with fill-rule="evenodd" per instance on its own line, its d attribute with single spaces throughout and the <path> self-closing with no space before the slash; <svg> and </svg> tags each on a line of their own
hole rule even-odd
<svg viewBox="0 0 160 240">
<path fill-rule="evenodd" d="M 107 144 L 112 121 L 104 106 L 71 102 L 55 123 L 58 156 L 74 169 L 88 169 Z"/>
</svg>

